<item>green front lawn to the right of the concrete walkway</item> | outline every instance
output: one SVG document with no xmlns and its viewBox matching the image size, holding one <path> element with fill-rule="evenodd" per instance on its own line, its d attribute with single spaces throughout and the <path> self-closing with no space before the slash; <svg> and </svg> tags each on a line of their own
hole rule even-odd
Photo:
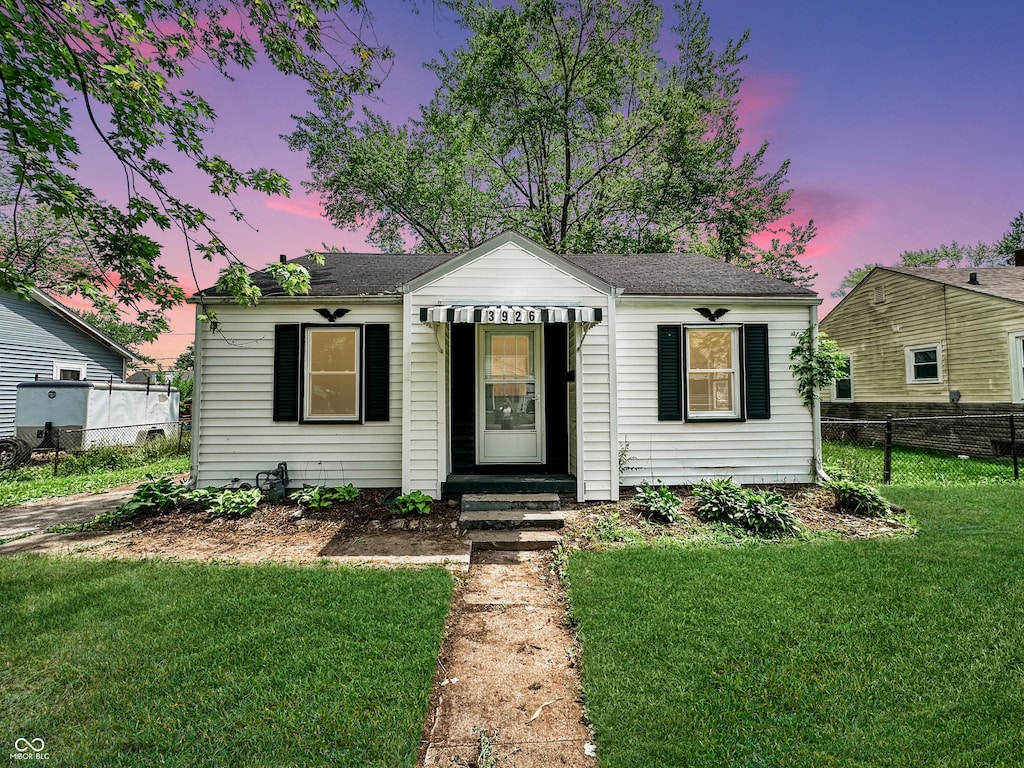
<svg viewBox="0 0 1024 768">
<path fill-rule="evenodd" d="M 1024 489 L 913 538 L 570 556 L 601 768 L 1024 764 Z"/>
</svg>

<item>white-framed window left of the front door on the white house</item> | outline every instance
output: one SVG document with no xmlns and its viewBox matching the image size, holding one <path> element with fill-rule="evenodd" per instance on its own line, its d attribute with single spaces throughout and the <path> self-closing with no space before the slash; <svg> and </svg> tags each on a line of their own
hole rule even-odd
<svg viewBox="0 0 1024 768">
<path fill-rule="evenodd" d="M 358 421 L 362 338 L 357 326 L 307 328 L 303 345 L 303 419 Z"/>
</svg>

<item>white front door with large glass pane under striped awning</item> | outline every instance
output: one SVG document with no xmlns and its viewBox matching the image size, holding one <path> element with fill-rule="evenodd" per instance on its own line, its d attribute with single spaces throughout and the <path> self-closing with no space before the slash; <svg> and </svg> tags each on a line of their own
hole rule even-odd
<svg viewBox="0 0 1024 768">
<path fill-rule="evenodd" d="M 478 326 L 476 461 L 544 463 L 544 336 L 538 326 Z"/>
</svg>

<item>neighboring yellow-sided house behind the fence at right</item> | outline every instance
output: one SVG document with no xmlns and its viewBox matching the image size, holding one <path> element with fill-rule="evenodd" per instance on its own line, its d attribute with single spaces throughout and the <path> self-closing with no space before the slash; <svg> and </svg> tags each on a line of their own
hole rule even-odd
<svg viewBox="0 0 1024 768">
<path fill-rule="evenodd" d="M 871 270 L 821 321 L 850 358 L 822 416 L 1024 411 L 1024 251 L 1017 263 Z"/>
</svg>

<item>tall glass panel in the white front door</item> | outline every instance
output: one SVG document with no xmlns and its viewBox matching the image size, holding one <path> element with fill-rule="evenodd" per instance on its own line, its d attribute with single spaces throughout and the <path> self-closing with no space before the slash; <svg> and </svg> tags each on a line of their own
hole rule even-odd
<svg viewBox="0 0 1024 768">
<path fill-rule="evenodd" d="M 484 428 L 537 428 L 534 334 L 496 332 L 485 336 Z"/>
</svg>

